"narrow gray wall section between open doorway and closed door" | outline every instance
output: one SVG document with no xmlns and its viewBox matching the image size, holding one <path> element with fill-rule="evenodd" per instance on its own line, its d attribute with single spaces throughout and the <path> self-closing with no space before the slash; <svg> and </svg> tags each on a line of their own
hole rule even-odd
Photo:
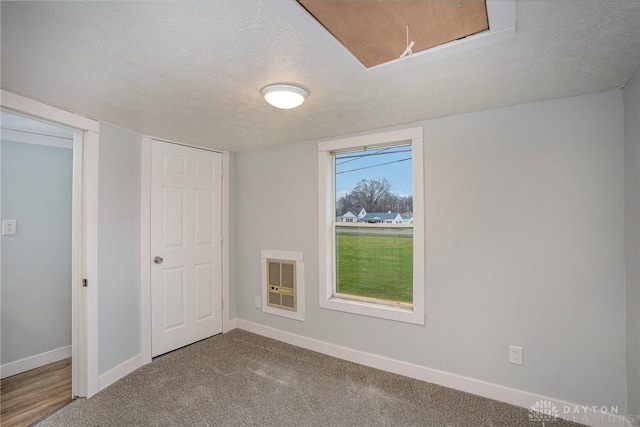
<svg viewBox="0 0 640 427">
<path fill-rule="evenodd" d="M 140 136 L 100 125 L 98 370 L 140 353 Z"/>
</svg>

